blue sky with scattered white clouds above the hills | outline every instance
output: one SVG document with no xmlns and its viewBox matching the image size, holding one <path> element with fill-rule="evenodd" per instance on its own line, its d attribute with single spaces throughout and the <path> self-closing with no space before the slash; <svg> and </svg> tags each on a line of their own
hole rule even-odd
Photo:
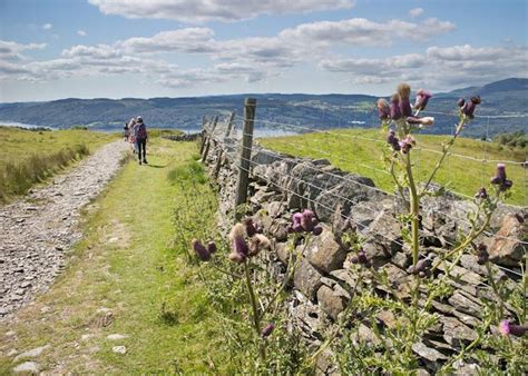
<svg viewBox="0 0 528 376">
<path fill-rule="evenodd" d="M 0 102 L 528 77 L 526 0 L 0 0 Z"/>
</svg>

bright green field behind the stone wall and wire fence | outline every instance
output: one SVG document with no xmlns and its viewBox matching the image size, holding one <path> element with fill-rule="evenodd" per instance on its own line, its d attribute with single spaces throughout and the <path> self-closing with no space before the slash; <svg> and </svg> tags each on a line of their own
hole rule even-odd
<svg viewBox="0 0 528 376">
<path fill-rule="evenodd" d="M 379 142 L 361 139 L 362 137 L 375 138 Z M 441 142 L 447 136 L 417 137 L 418 146 L 426 149 L 441 150 Z M 377 187 L 393 191 L 392 178 L 388 175 L 383 161 L 387 152 L 385 135 L 375 129 L 346 129 L 330 132 L 315 132 L 299 136 L 261 139 L 260 144 L 285 154 L 309 158 L 326 158 L 332 165 L 345 171 L 351 171 L 371 178 Z M 487 160 L 524 160 L 524 155 L 514 152 L 495 142 L 483 142 L 475 139 L 458 139 L 452 148 L 452 154 L 465 155 Z M 414 165 L 421 181 L 426 180 L 428 172 L 436 166 L 440 155 L 427 150 L 415 150 Z M 437 175 L 436 182 L 448 189 L 472 196 L 483 185 L 488 186 L 489 179 L 495 176 L 496 162 L 481 162 L 450 156 Z M 508 204 L 528 205 L 527 169 L 520 165 L 507 167 L 508 178 L 514 181 L 511 196 Z"/>
</svg>

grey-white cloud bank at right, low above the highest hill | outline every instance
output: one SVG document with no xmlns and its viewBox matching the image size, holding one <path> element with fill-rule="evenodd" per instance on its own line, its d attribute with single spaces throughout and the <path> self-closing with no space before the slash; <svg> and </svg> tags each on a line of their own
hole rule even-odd
<svg viewBox="0 0 528 376">
<path fill-rule="evenodd" d="M 528 77 L 528 48 L 469 44 L 431 47 L 423 55 L 410 53 L 385 59 L 324 59 L 320 68 L 345 75 L 356 85 L 381 85 L 407 80 L 422 87 L 487 83 L 509 77 Z"/>
</svg>

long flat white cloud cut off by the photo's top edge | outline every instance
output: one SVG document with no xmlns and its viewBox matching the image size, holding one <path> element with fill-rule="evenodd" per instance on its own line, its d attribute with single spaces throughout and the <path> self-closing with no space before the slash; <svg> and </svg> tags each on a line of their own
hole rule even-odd
<svg viewBox="0 0 528 376">
<path fill-rule="evenodd" d="M 105 14 L 174 19 L 185 23 L 238 21 L 260 14 L 350 9 L 355 0 L 88 0 Z"/>
</svg>

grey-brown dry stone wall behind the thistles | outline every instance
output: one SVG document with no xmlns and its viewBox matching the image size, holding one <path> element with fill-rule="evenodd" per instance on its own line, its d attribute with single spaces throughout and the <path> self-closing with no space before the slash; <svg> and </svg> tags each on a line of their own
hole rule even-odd
<svg viewBox="0 0 528 376">
<path fill-rule="evenodd" d="M 212 141 L 205 164 L 216 179 L 219 197 L 221 227 L 228 231 L 234 218 L 237 178 L 237 141 L 223 139 Z M 250 184 L 247 212 L 263 225 L 265 234 L 273 238 L 272 253 L 263 258 L 272 270 L 284 270 L 287 263 L 287 224 L 292 212 L 312 209 L 322 221 L 323 232 L 304 250 L 304 257 L 295 270 L 289 307 L 295 325 L 302 328 L 309 340 L 323 340 L 325 328 L 332 325 L 351 299 L 358 276 L 351 271 L 349 249 L 342 244 L 342 234 L 358 230 L 366 239 L 364 250 L 378 270 L 384 270 L 393 291 L 400 297 L 408 295 L 411 255 L 400 236 L 401 202 L 392 196 L 377 190 L 371 179 L 341 171 L 327 160 L 299 159 L 275 154 L 255 146 L 252 157 L 252 182 Z M 463 221 L 472 204 L 446 194 L 422 200 L 423 257 L 434 260 L 456 241 L 456 234 L 467 228 Z M 501 207 L 493 215 L 491 231 L 501 237 L 481 236 L 478 241 L 488 245 L 490 257 L 497 265 L 520 273 L 519 260 L 526 245 L 512 238 L 526 238 L 526 209 Z M 507 237 L 507 238 L 506 238 Z M 282 265 L 282 268 L 281 268 Z M 497 280 L 507 281 L 512 288 L 520 277 L 493 265 Z M 440 267 L 437 273 L 444 269 Z M 447 356 L 453 354 L 477 336 L 476 327 L 482 324 L 481 297 L 493 299 L 487 284 L 486 268 L 477 257 L 466 254 L 450 271 L 448 278 L 453 294 L 433 303 L 440 315 L 422 343 L 413 350 L 421 357 L 427 372 L 434 370 Z M 383 287 L 379 286 L 380 289 Z M 506 306 L 507 315 L 511 307 Z M 379 317 L 387 327 L 393 324 L 390 313 Z M 366 325 L 361 325 L 360 336 L 375 342 Z M 475 368 L 459 369 L 473 373 Z M 475 367 L 475 366 L 473 366 Z M 320 368 L 332 372 L 329 362 L 321 358 Z"/>
</svg>

